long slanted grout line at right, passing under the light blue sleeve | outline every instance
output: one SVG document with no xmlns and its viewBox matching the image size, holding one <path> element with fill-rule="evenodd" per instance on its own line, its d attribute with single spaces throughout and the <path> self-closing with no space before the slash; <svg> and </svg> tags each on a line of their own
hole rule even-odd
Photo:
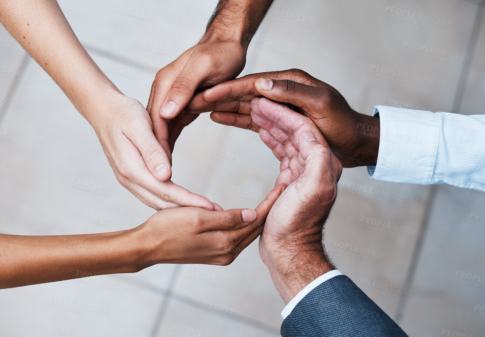
<svg viewBox="0 0 485 337">
<path fill-rule="evenodd" d="M 472 32 L 470 34 L 470 40 L 469 40 L 469 45 L 467 48 L 467 55 L 469 55 L 469 62 L 465 63 L 463 65 L 461 74 L 460 74 L 460 79 L 458 80 L 458 86 L 456 88 L 456 94 L 453 100 L 453 108 L 452 111 L 453 113 L 459 113 L 461 104 L 463 102 L 463 96 L 465 93 L 465 87 L 467 85 L 468 77 L 469 77 L 469 72 L 470 72 L 470 64 L 473 62 L 474 54 L 475 54 L 475 48 L 478 43 L 478 37 L 480 35 L 480 30 L 482 28 L 483 24 L 483 19 L 484 19 L 484 11 L 485 11 L 485 6 L 484 4 L 479 4 L 478 9 L 477 9 L 477 14 L 475 16 L 475 20 L 473 22 L 473 28 Z M 428 197 L 428 200 L 426 202 L 426 211 L 423 216 L 423 221 L 421 223 L 421 230 L 427 230 L 429 227 L 429 223 L 431 220 L 431 207 L 433 207 L 433 204 L 436 200 L 436 194 L 437 194 L 437 185 L 432 185 L 431 186 L 431 191 L 430 195 Z M 411 289 L 412 284 L 414 282 L 414 278 L 416 275 L 417 267 L 418 267 L 418 260 L 420 259 L 421 251 L 422 251 L 422 246 L 423 246 L 424 238 L 420 237 L 418 239 L 418 242 L 416 242 L 416 247 L 413 252 L 413 256 L 411 258 L 411 264 L 409 267 L 409 271 L 406 277 L 406 281 L 404 283 L 404 287 L 407 289 Z M 401 298 L 398 303 L 398 312 L 396 315 L 396 322 L 398 324 L 402 323 L 402 320 L 404 318 L 404 309 L 407 305 L 407 302 L 409 300 L 409 296 L 402 294 Z"/>
</svg>

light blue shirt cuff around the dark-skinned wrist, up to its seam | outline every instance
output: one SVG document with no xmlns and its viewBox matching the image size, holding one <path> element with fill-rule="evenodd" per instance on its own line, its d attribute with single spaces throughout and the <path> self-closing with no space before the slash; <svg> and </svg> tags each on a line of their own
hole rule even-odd
<svg viewBox="0 0 485 337">
<path fill-rule="evenodd" d="M 429 111 L 378 105 L 380 141 L 376 166 L 368 167 L 376 180 L 427 185 L 431 183 L 438 148 L 437 115 Z"/>
</svg>

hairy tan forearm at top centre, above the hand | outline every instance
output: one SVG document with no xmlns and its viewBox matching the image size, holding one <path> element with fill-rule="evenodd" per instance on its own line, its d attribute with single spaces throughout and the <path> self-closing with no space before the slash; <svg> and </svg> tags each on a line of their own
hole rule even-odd
<svg viewBox="0 0 485 337">
<path fill-rule="evenodd" d="M 220 0 L 204 39 L 235 40 L 247 48 L 273 0 Z"/>
</svg>

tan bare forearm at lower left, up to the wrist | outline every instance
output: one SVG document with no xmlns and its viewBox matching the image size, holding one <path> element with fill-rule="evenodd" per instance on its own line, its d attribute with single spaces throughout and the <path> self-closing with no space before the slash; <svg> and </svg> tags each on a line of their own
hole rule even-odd
<svg viewBox="0 0 485 337">
<path fill-rule="evenodd" d="M 136 229 L 100 234 L 0 234 L 0 289 L 111 273 L 148 265 Z"/>
</svg>

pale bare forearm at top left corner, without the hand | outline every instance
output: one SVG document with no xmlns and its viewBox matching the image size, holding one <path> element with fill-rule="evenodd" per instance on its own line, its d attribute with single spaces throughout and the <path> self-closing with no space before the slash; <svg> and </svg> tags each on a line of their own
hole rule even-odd
<svg viewBox="0 0 485 337">
<path fill-rule="evenodd" d="M 82 47 L 57 1 L 0 0 L 0 22 L 84 117 L 118 91 Z"/>
</svg>

